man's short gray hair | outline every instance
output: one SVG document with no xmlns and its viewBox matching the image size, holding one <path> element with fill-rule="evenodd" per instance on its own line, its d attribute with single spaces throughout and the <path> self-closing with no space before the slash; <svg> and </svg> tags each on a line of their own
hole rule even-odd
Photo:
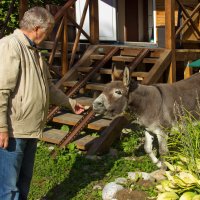
<svg viewBox="0 0 200 200">
<path fill-rule="evenodd" d="M 42 7 L 33 7 L 24 13 L 23 18 L 19 23 L 19 27 L 31 31 L 39 26 L 47 30 L 48 27 L 53 26 L 54 23 L 54 17 L 48 10 Z"/>
</svg>

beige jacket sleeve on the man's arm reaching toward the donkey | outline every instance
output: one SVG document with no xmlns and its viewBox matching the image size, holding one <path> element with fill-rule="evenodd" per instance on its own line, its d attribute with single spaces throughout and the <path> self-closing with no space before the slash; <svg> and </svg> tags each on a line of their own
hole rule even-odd
<svg viewBox="0 0 200 200">
<path fill-rule="evenodd" d="M 52 77 L 48 70 L 47 64 L 46 64 L 46 69 L 47 69 L 47 77 L 48 77 L 48 84 L 49 84 L 50 103 L 58 105 L 58 106 L 66 106 L 70 108 L 71 110 L 74 110 L 74 107 L 76 105 L 76 100 L 68 98 L 62 90 L 55 87 L 54 83 L 52 82 Z"/>
</svg>

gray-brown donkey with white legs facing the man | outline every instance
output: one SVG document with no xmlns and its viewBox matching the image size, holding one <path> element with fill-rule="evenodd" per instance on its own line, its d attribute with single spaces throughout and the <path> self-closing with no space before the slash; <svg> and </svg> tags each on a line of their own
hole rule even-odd
<svg viewBox="0 0 200 200">
<path fill-rule="evenodd" d="M 175 105 L 183 106 L 194 116 L 198 109 L 200 95 L 200 73 L 173 84 L 142 85 L 131 80 L 129 68 L 123 72 L 123 81 L 112 76 L 104 91 L 93 102 L 96 113 L 116 116 L 128 112 L 145 127 L 144 150 L 158 167 L 162 162 L 153 153 L 153 139 L 157 136 L 159 154 L 162 158 L 168 152 L 166 129 L 176 124 Z"/>
</svg>

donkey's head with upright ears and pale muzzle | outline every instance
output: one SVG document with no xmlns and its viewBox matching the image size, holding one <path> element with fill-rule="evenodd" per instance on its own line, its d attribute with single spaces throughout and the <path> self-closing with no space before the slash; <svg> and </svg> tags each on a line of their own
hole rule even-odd
<svg viewBox="0 0 200 200">
<path fill-rule="evenodd" d="M 93 102 L 96 113 L 115 116 L 125 111 L 128 102 L 128 93 L 131 77 L 129 68 L 123 72 L 123 81 L 116 80 L 116 70 L 112 70 L 112 82 L 105 86 L 99 97 Z"/>
</svg>

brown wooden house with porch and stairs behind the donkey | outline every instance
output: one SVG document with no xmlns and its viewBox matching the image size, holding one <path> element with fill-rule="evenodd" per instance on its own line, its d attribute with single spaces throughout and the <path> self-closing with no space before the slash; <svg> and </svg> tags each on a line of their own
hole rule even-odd
<svg viewBox="0 0 200 200">
<path fill-rule="evenodd" d="M 20 0 L 20 17 L 27 5 L 28 0 Z M 189 77 L 193 70 L 188 63 L 200 58 L 198 0 L 68 0 L 54 16 L 57 28 L 53 41 L 42 46 L 49 49 L 51 69 L 60 53 L 62 78 L 56 87 L 66 88 L 70 97 L 78 92 L 76 98 L 83 105 L 91 105 L 95 95 L 91 99 L 81 95 L 101 91 L 105 80 L 110 80 L 113 64 L 121 71 L 128 65 L 132 77 L 142 84 L 172 83 Z M 88 48 L 77 59 L 84 45 Z M 84 127 L 103 130 L 89 153 L 108 149 L 126 124 L 121 117 L 89 122 L 94 116 L 91 110 L 83 118 L 69 113 L 55 116 L 58 110 L 53 108 L 48 119 L 74 127 L 68 135 L 48 130 L 43 140 L 63 147 Z M 89 137 L 78 145 L 85 150 L 91 141 Z"/>
</svg>

